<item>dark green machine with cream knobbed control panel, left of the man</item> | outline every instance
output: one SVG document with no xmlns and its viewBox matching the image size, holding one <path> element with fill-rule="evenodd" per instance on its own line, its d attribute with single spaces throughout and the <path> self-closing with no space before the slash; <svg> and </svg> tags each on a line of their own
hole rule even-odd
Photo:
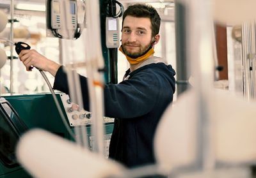
<svg viewBox="0 0 256 178">
<path fill-rule="evenodd" d="M 75 126 L 86 128 L 88 145 L 93 151 L 94 139 L 91 134 L 91 112 L 83 109 L 72 110 L 72 103 L 67 94 L 56 93 L 61 110 L 65 115 L 69 129 L 74 133 Z M 0 177 L 30 177 L 15 159 L 15 145 L 22 133 L 32 128 L 42 128 L 67 140 L 74 141 L 61 120 L 52 95 L 23 94 L 0 98 Z M 74 108 L 74 107 L 73 107 Z M 102 118 L 105 126 L 105 157 L 113 131 L 113 119 Z"/>
</svg>

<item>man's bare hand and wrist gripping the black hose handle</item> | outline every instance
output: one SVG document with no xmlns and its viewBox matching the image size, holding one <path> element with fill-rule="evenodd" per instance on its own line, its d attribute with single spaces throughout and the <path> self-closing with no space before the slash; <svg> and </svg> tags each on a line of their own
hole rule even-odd
<svg viewBox="0 0 256 178">
<path fill-rule="evenodd" d="M 60 68 L 60 64 L 55 63 L 39 54 L 36 50 L 22 50 L 19 54 L 20 61 L 26 66 L 29 71 L 30 66 L 35 66 L 44 71 L 49 71 L 55 77 L 56 72 Z"/>
</svg>

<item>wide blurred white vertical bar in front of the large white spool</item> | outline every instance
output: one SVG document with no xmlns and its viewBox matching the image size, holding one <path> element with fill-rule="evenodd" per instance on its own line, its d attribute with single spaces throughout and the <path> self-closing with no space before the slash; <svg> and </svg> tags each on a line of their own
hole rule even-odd
<svg viewBox="0 0 256 178">
<path fill-rule="evenodd" d="M 212 59 L 212 23 L 211 1 L 197 0 L 190 3 L 189 14 L 189 54 L 191 71 L 195 77 L 195 90 L 198 114 L 197 159 L 204 172 L 211 172 L 215 168 L 214 155 L 214 123 L 209 117 L 209 91 L 213 87 L 213 62 Z"/>
</svg>

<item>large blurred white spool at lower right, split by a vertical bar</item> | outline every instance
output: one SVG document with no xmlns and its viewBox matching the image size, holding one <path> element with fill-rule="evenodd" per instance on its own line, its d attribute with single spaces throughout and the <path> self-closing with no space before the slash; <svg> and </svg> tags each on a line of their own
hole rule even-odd
<svg viewBox="0 0 256 178">
<path fill-rule="evenodd" d="M 256 161 L 256 103 L 223 90 L 209 91 L 208 114 L 213 127 L 216 161 Z M 155 137 L 159 166 L 172 170 L 196 162 L 196 94 L 190 90 L 166 109 Z"/>
</svg>

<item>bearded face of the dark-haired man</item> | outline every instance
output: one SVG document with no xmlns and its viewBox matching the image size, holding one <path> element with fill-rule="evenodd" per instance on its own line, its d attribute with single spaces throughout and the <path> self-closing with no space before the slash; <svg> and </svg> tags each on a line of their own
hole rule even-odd
<svg viewBox="0 0 256 178">
<path fill-rule="evenodd" d="M 122 47 L 124 53 L 139 57 L 152 43 L 152 30 L 149 18 L 127 16 L 122 29 Z"/>
</svg>

